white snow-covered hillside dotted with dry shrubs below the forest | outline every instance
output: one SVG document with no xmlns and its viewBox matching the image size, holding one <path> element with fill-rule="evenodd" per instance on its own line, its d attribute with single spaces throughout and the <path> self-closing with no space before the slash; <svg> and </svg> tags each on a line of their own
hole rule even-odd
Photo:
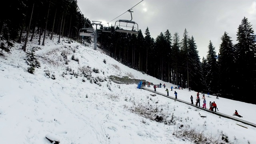
<svg viewBox="0 0 256 144">
<path fill-rule="evenodd" d="M 232 144 L 256 143 L 256 127 L 159 94 L 151 96 L 154 93 L 138 89 L 137 84 L 111 81 L 109 76 L 114 75 L 166 84 L 169 96 L 174 97 L 170 87 L 175 85 L 124 66 L 99 48 L 94 50 L 93 44 L 84 46 L 66 38 L 58 43 L 58 36 L 53 40 L 46 36 L 42 46 L 38 37 L 36 34 L 27 44 L 27 52 L 34 48 L 40 63 L 34 74 L 27 72 L 26 53 L 20 50 L 23 44 L 15 43 L 10 53 L 0 56 L 1 144 L 50 144 L 46 137 L 60 144 L 193 144 L 179 133 L 185 130 L 195 130 L 218 142 L 224 134 Z M 73 55 L 78 61 L 72 60 Z M 91 76 L 85 78 L 82 70 Z M 156 88 L 162 94 L 165 90 Z M 197 92 L 176 92 L 178 99 L 190 102 L 192 95 L 195 102 Z M 243 116 L 240 120 L 256 122 L 255 104 L 205 97 L 206 108 L 215 101 L 217 112 L 238 118 L 232 116 L 238 110 Z M 172 123 L 156 122 L 156 115 Z"/>
</svg>

